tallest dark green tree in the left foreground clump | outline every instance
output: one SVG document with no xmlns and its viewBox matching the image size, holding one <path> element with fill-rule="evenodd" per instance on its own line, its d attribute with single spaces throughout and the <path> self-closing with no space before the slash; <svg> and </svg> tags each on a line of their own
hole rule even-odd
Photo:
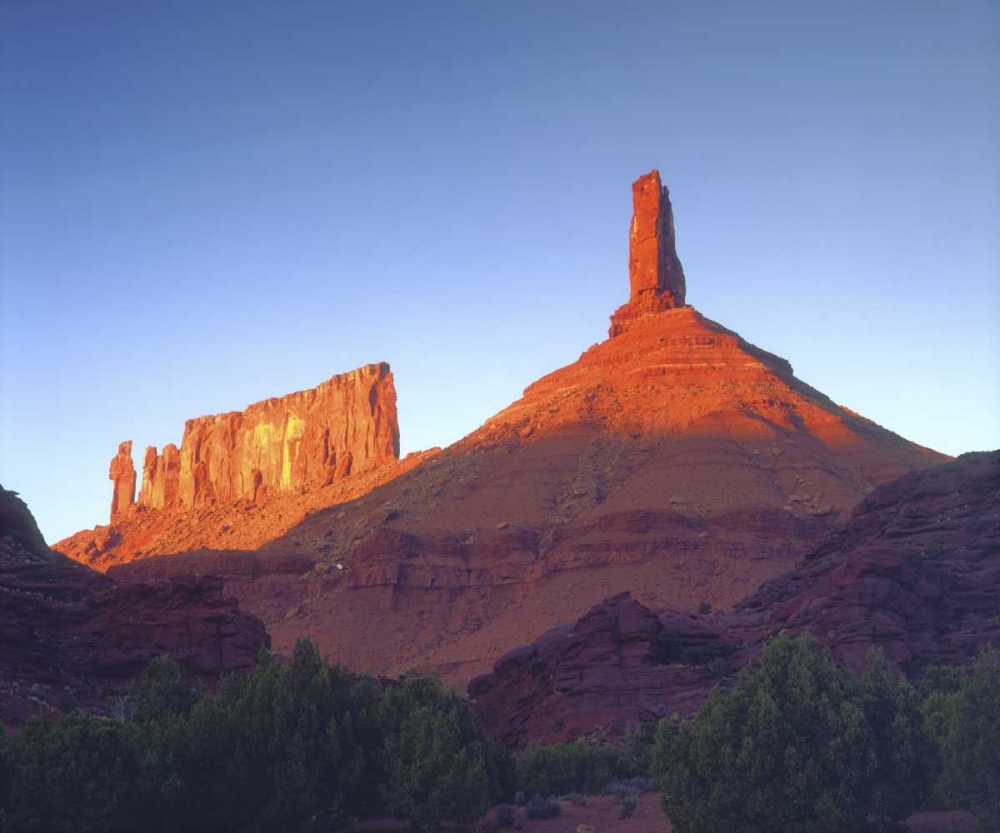
<svg viewBox="0 0 1000 833">
<path fill-rule="evenodd" d="M 181 783 L 175 826 L 329 829 L 362 814 L 378 744 L 377 727 L 366 723 L 375 709 L 363 695 L 305 640 L 285 666 L 264 654 L 251 674 L 224 680 L 166 731 Z"/>
</svg>

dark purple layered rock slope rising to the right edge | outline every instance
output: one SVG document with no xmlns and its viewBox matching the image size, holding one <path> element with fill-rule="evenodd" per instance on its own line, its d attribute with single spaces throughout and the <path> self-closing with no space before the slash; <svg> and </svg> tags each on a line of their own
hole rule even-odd
<svg viewBox="0 0 1000 833">
<path fill-rule="evenodd" d="M 881 486 L 736 609 L 768 635 L 814 632 L 858 671 L 870 646 L 911 677 L 1000 647 L 1000 451 Z"/>
</svg>

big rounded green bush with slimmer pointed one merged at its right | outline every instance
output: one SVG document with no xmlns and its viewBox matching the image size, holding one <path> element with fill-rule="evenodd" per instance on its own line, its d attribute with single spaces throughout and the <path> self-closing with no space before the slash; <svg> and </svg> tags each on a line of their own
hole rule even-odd
<svg viewBox="0 0 1000 833">
<path fill-rule="evenodd" d="M 917 771 L 919 727 L 907 684 L 888 677 L 873 659 L 860 683 L 809 635 L 772 640 L 690 723 L 660 724 L 653 767 L 677 833 L 856 831 L 872 812 L 909 815 L 921 790 L 894 791 L 892 766 Z"/>
</svg>

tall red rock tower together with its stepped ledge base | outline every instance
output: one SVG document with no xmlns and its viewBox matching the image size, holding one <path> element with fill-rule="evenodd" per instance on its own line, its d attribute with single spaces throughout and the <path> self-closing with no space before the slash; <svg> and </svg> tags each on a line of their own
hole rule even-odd
<svg viewBox="0 0 1000 833">
<path fill-rule="evenodd" d="M 612 338 L 657 313 L 685 306 L 670 193 L 655 168 L 632 183 L 628 278 L 629 300 L 611 316 Z"/>
</svg>

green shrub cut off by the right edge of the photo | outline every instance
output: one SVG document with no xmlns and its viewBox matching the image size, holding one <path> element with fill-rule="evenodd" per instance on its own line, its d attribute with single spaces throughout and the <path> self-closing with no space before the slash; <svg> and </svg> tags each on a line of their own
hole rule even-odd
<svg viewBox="0 0 1000 833">
<path fill-rule="evenodd" d="M 937 750 L 935 799 L 972 807 L 980 827 L 1000 830 L 1000 660 L 984 650 L 972 675 L 942 675 L 922 711 Z"/>
</svg>

